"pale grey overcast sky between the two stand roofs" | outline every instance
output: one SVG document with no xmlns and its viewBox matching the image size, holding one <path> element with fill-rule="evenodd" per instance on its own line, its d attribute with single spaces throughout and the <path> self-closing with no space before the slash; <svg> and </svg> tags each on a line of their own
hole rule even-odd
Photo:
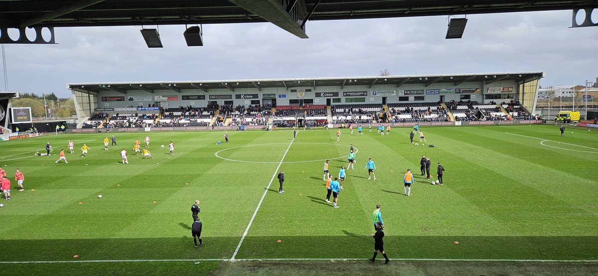
<svg viewBox="0 0 598 276">
<path fill-rule="evenodd" d="M 309 39 L 271 23 L 210 24 L 203 47 L 187 47 L 185 26 L 160 26 L 164 48 L 147 48 L 141 27 L 58 28 L 56 45 L 5 45 L 8 89 L 70 97 L 68 82 L 371 76 L 382 69 L 541 70 L 543 87 L 598 77 L 598 27 L 568 28 L 571 11 L 468 19 L 462 39 L 444 39 L 444 16 L 307 22 Z"/>
</svg>

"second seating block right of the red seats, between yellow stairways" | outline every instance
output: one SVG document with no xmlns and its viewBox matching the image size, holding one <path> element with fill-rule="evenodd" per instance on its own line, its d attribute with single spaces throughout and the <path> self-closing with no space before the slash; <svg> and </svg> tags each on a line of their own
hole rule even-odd
<svg viewBox="0 0 598 276">
<path fill-rule="evenodd" d="M 440 103 L 390 103 L 388 122 L 446 122 L 449 115 Z"/>
</svg>

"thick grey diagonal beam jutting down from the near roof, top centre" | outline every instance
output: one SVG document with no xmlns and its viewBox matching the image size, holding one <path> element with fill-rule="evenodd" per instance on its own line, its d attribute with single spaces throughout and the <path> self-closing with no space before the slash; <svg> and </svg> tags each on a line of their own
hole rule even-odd
<svg viewBox="0 0 598 276">
<path fill-rule="evenodd" d="M 229 1 L 276 26 L 279 26 L 293 35 L 300 38 L 309 38 L 305 33 L 305 23 L 302 21 L 304 19 L 303 10 L 305 10 L 305 7 L 299 7 L 303 1 L 297 1 L 297 3 L 291 7 L 290 12 L 287 12 L 285 7 L 283 7 L 280 4 L 280 1 L 277 0 Z"/>
</svg>

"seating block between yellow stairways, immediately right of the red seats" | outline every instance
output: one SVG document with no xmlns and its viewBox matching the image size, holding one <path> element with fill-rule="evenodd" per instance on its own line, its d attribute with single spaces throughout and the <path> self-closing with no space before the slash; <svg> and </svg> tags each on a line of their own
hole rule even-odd
<svg viewBox="0 0 598 276">
<path fill-rule="evenodd" d="M 368 124 L 375 122 L 380 114 L 385 112 L 379 103 L 332 106 L 332 121 L 337 124 Z"/>
</svg>

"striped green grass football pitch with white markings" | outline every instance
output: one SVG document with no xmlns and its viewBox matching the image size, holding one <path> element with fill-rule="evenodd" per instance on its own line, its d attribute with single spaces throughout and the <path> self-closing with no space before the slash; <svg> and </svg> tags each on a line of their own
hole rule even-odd
<svg viewBox="0 0 598 276">
<path fill-rule="evenodd" d="M 223 131 L 51 134 L 2 142 L 0 165 L 12 188 L 11 199 L 1 200 L 1 269 L 8 275 L 239 274 L 260 270 L 226 266 L 260 259 L 284 274 L 306 263 L 318 269 L 347 259 L 353 270 L 346 274 L 414 262 L 418 274 L 420 263 L 467 260 L 483 264 L 470 271 L 478 274 L 518 274 L 519 262 L 540 274 L 558 274 L 559 267 L 598 272 L 598 131 L 568 128 L 561 137 L 554 125 L 423 127 L 427 142 L 416 146 L 410 130 L 392 128 L 381 136 L 365 127 L 361 136 L 343 129 L 340 142 L 336 129 L 300 130 L 297 139 L 290 130 L 229 131 L 229 143 Z M 118 146 L 105 151 L 103 139 L 112 134 Z M 132 151 L 145 135 L 153 159 Z M 46 142 L 51 156 L 33 156 L 45 152 Z M 86 157 L 80 157 L 83 143 L 90 146 Z M 337 177 L 350 144 L 358 151 L 355 169 L 347 170 L 339 208 L 332 208 L 325 202 L 324 161 Z M 123 148 L 129 164 L 121 164 Z M 55 164 L 60 149 L 68 164 Z M 422 155 L 431 158 L 432 180 L 443 164 L 443 186 L 419 175 Z M 368 158 L 376 163 L 376 180 L 368 180 Z M 25 175 L 23 192 L 16 168 Z M 415 176 L 410 197 L 402 185 L 408 168 Z M 278 193 L 279 170 L 284 194 Z M 190 230 L 195 200 L 205 242 L 197 249 Z M 386 266 L 381 254 L 376 263 L 366 260 L 376 204 L 392 260 Z M 505 266 L 510 262 L 515 265 Z"/>
</svg>

